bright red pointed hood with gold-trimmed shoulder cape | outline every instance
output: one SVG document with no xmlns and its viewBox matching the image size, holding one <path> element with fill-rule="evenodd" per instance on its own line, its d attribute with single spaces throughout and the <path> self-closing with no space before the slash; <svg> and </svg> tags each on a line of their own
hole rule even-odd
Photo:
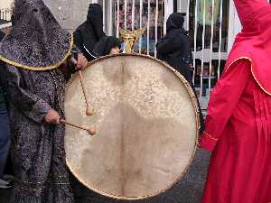
<svg viewBox="0 0 271 203">
<path fill-rule="evenodd" d="M 257 84 L 271 96 L 271 5 L 266 0 L 234 0 L 243 29 L 229 53 L 225 70 L 247 59 Z"/>
</svg>

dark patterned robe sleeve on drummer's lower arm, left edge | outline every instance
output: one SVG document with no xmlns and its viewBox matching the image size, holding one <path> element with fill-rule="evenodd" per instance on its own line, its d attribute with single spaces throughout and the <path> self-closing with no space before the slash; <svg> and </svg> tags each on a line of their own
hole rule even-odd
<svg viewBox="0 0 271 203">
<path fill-rule="evenodd" d="M 8 101 L 34 122 L 42 123 L 44 116 L 51 110 L 51 106 L 41 97 L 23 88 L 21 73 L 14 66 L 6 65 L 1 75 L 5 76 L 1 79 L 5 80 Z"/>
</svg>

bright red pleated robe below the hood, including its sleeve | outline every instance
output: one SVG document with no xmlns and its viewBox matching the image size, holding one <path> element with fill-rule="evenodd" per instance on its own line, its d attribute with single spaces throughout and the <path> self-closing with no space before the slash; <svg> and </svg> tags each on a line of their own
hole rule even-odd
<svg viewBox="0 0 271 203">
<path fill-rule="evenodd" d="M 249 60 L 235 61 L 212 91 L 200 144 L 212 152 L 202 203 L 271 202 L 271 96 Z"/>
</svg>

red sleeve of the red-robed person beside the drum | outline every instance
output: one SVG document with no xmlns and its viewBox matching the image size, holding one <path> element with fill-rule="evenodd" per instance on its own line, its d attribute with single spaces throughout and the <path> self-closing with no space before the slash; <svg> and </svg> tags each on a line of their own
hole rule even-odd
<svg viewBox="0 0 271 203">
<path fill-rule="evenodd" d="M 211 92 L 200 147 L 212 152 L 229 122 L 251 75 L 250 62 L 237 60 L 225 71 Z"/>
</svg>

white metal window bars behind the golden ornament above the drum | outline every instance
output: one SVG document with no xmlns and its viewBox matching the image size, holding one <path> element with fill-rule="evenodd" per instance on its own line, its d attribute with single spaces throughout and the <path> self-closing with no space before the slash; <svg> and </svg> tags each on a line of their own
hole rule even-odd
<svg viewBox="0 0 271 203">
<path fill-rule="evenodd" d="M 165 33 L 164 8 L 168 4 L 164 0 L 102 0 L 98 3 L 103 5 L 104 13 L 107 14 L 104 20 L 107 34 L 119 37 L 120 29 L 145 28 L 136 51 L 156 56 L 155 43 Z"/>
</svg>

